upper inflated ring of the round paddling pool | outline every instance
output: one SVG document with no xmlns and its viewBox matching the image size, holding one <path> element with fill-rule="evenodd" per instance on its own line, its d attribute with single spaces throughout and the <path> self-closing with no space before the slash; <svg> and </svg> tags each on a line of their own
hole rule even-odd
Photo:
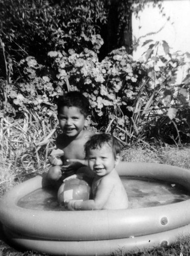
<svg viewBox="0 0 190 256">
<path fill-rule="evenodd" d="M 120 176 L 139 176 L 178 183 L 189 190 L 188 169 L 158 163 L 118 166 Z M 46 186 L 45 176 L 25 181 L 1 199 L 0 221 L 21 238 L 53 241 L 98 241 L 148 236 L 176 230 L 190 223 L 190 199 L 147 208 L 96 211 L 44 211 L 21 208 L 18 200 Z M 184 210 L 185 209 L 185 210 Z M 47 225 L 48 223 L 48 225 Z M 74 232 L 73 232 L 74 230 Z M 190 233 L 190 230 L 189 230 Z M 137 244 L 138 246 L 138 244 Z"/>
</svg>

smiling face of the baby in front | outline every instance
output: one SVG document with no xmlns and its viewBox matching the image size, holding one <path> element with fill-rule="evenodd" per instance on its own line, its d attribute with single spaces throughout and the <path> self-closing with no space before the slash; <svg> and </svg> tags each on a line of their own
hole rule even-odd
<svg viewBox="0 0 190 256">
<path fill-rule="evenodd" d="M 112 148 L 107 143 L 102 147 L 89 150 L 89 167 L 98 176 L 111 173 L 118 161 L 119 155 L 117 155 L 115 159 Z"/>
</svg>

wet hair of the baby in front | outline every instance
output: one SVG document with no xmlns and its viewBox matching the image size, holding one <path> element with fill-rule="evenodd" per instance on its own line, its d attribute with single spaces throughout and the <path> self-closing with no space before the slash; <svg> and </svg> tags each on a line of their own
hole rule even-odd
<svg viewBox="0 0 190 256">
<path fill-rule="evenodd" d="M 121 153 L 122 146 L 119 140 L 108 133 L 100 133 L 93 135 L 85 144 L 85 155 L 88 158 L 90 150 L 96 150 L 103 145 L 108 144 L 113 151 L 114 158 Z"/>
</svg>

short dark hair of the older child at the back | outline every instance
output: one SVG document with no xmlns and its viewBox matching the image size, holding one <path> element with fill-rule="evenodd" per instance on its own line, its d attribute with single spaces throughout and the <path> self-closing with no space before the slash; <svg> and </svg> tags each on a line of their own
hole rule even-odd
<svg viewBox="0 0 190 256">
<path fill-rule="evenodd" d="M 88 99 L 78 91 L 71 91 L 59 97 L 58 102 L 58 114 L 64 106 L 68 108 L 75 106 L 80 112 L 87 117 L 90 114 L 90 103 Z"/>
</svg>

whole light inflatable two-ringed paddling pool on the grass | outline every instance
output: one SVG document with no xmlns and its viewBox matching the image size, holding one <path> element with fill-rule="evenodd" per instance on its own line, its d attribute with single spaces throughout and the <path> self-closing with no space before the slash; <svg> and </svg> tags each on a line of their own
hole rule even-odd
<svg viewBox="0 0 190 256">
<path fill-rule="evenodd" d="M 148 177 L 182 185 L 189 191 L 190 171 L 156 163 L 118 165 L 120 176 Z M 0 221 L 10 242 L 27 250 L 56 255 L 110 255 L 169 245 L 190 234 L 190 199 L 169 205 L 122 210 L 55 211 L 26 209 L 18 201 L 45 188 L 37 176 L 1 200 Z"/>
</svg>

